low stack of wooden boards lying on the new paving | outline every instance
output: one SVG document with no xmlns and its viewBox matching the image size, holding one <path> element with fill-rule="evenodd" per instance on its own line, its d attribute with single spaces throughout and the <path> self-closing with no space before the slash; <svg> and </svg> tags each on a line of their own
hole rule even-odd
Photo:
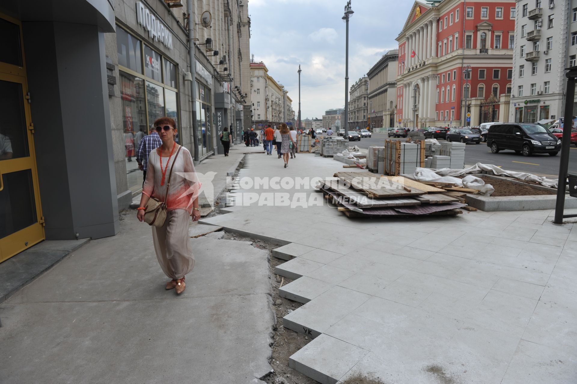
<svg viewBox="0 0 577 384">
<path fill-rule="evenodd" d="M 348 217 L 456 215 L 462 197 L 402 176 L 337 172 L 319 188 Z"/>
</svg>

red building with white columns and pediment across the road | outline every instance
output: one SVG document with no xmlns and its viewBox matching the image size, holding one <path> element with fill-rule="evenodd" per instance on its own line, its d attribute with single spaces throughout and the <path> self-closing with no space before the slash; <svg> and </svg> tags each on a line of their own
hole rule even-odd
<svg viewBox="0 0 577 384">
<path fill-rule="evenodd" d="M 515 0 L 417 0 L 396 40 L 398 126 L 508 120 Z"/>
</svg>

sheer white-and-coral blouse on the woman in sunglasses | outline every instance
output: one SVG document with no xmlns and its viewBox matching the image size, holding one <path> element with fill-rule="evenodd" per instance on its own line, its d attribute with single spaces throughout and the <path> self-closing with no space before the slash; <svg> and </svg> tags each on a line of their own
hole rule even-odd
<svg viewBox="0 0 577 384">
<path fill-rule="evenodd" d="M 175 158 L 177 151 L 178 147 L 174 148 L 174 155 L 168 162 L 168 167 L 166 167 L 168 157 L 163 156 L 162 158 L 162 171 L 166 167 L 164 185 L 160 185 L 162 180 L 160 156 L 156 149 L 150 152 L 143 193 L 148 197 L 156 197 L 161 202 L 164 201 L 170 167 L 174 163 L 173 176 L 170 180 L 170 188 L 166 199 L 166 208 L 168 211 L 182 209 L 190 213 L 192 211 L 192 203 L 200 191 L 201 183 L 198 181 L 190 152 L 185 147 L 182 147 L 178 157 Z"/>
</svg>

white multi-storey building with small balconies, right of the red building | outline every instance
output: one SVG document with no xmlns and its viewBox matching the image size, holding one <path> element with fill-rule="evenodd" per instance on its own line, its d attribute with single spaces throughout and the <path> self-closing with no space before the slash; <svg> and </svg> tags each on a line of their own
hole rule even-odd
<svg viewBox="0 0 577 384">
<path fill-rule="evenodd" d="M 557 120 L 564 114 L 564 69 L 577 65 L 577 1 L 518 0 L 515 14 L 509 121 Z"/>
</svg>

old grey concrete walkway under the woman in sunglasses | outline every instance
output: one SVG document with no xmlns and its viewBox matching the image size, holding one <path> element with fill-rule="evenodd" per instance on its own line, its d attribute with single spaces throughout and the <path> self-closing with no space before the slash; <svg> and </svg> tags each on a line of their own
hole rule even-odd
<svg viewBox="0 0 577 384">
<path fill-rule="evenodd" d="M 268 252 L 222 232 L 194 238 L 177 296 L 135 212 L 0 305 L 2 383 L 263 383 Z"/>
</svg>

